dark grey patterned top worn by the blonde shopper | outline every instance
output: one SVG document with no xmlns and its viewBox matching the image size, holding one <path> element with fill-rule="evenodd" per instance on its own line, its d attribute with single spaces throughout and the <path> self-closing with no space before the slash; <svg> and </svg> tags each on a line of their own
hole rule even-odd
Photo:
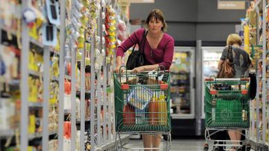
<svg viewBox="0 0 269 151">
<path fill-rule="evenodd" d="M 228 52 L 228 47 L 226 46 L 222 52 L 221 60 L 225 60 Z M 241 78 L 245 75 L 246 71 L 249 69 L 251 60 L 249 59 L 249 54 L 244 50 L 233 47 L 233 59 L 234 59 L 234 77 Z"/>
</svg>

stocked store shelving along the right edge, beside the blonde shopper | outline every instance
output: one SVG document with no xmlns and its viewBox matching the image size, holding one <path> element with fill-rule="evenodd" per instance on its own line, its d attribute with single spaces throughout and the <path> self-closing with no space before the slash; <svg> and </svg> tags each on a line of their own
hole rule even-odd
<svg viewBox="0 0 269 151">
<path fill-rule="evenodd" d="M 268 150 L 268 51 L 267 51 L 267 1 L 259 0 L 255 3 L 253 10 L 256 11 L 256 41 L 252 41 L 252 57 L 256 59 L 257 93 L 256 98 L 250 102 L 250 129 L 249 143 L 253 149 Z M 259 26 L 260 16 L 263 16 L 262 26 Z M 253 19 L 252 19 L 253 20 Z M 248 23 L 251 22 L 247 19 Z M 255 22 L 255 21 L 254 21 Z M 260 29 L 262 33 L 260 35 Z M 246 48 L 246 46 L 245 46 Z M 252 50 L 250 49 L 250 50 Z M 259 52 L 262 51 L 262 52 Z M 254 54 L 253 54 L 254 52 Z M 255 57 L 256 55 L 256 57 Z"/>
</svg>

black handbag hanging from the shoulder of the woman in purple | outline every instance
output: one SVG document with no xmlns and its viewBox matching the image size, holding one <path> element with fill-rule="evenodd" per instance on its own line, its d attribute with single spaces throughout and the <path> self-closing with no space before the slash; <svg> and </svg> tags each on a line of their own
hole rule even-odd
<svg viewBox="0 0 269 151">
<path fill-rule="evenodd" d="M 132 53 L 128 56 L 126 68 L 127 70 L 133 70 L 136 67 L 140 67 L 146 64 L 146 59 L 144 58 L 144 48 L 145 48 L 145 40 L 148 31 L 145 30 L 142 38 L 141 47 L 138 50 L 135 50 L 135 46 L 133 47 Z"/>
</svg>

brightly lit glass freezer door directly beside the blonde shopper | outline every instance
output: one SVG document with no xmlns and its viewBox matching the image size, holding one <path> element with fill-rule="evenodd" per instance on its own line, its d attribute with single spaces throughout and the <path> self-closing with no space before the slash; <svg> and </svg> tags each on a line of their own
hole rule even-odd
<svg viewBox="0 0 269 151">
<path fill-rule="evenodd" d="M 202 54 L 203 54 L 203 69 L 202 69 L 202 117 L 205 118 L 205 107 L 204 107 L 204 100 L 205 100 L 205 78 L 209 78 L 210 76 L 217 76 L 218 70 L 218 63 L 219 59 L 222 55 L 224 47 L 202 47 Z"/>
</svg>

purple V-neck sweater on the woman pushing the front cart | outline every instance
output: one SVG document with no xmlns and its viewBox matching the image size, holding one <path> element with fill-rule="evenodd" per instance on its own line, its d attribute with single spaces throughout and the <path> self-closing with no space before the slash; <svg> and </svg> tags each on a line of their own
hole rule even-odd
<svg viewBox="0 0 269 151">
<path fill-rule="evenodd" d="M 142 45 L 143 34 L 144 28 L 140 28 L 131 34 L 131 36 L 123 41 L 123 43 L 118 47 L 116 56 L 123 56 L 123 54 L 135 44 L 138 44 L 140 47 Z M 159 66 L 162 65 L 166 70 L 168 70 L 172 63 L 173 54 L 174 38 L 172 38 L 170 35 L 164 33 L 163 38 L 157 46 L 157 49 L 151 49 L 148 40 L 145 40 L 144 55 L 149 64 L 159 64 Z"/>
</svg>

